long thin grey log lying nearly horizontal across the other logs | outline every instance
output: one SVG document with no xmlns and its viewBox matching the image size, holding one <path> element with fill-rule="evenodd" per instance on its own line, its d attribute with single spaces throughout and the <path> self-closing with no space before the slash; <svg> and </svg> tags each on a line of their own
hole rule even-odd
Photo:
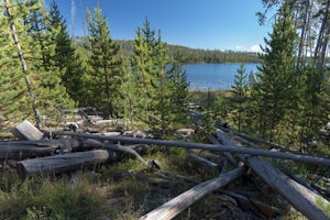
<svg viewBox="0 0 330 220">
<path fill-rule="evenodd" d="M 72 136 L 80 136 L 86 139 L 108 140 L 108 141 L 133 143 L 133 144 L 152 144 L 152 145 L 176 146 L 176 147 L 185 147 L 185 148 L 202 148 L 202 150 L 230 152 L 230 153 L 238 153 L 238 154 L 261 155 L 261 156 L 285 158 L 285 160 L 305 162 L 310 164 L 330 166 L 329 158 L 314 157 L 309 155 L 300 155 L 300 154 L 293 154 L 293 153 L 272 152 L 272 151 L 258 150 L 258 148 L 246 148 L 242 146 L 232 147 L 229 145 L 191 143 L 191 142 L 183 142 L 183 141 L 136 139 L 136 138 L 128 138 L 128 136 L 103 136 L 103 135 L 94 135 L 94 134 L 75 133 L 75 132 L 54 132 L 54 133 L 57 135 L 72 135 Z"/>
</svg>

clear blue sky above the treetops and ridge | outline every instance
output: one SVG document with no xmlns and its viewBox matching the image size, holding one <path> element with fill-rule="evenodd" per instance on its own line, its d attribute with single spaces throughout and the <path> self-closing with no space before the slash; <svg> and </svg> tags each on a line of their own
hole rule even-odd
<svg viewBox="0 0 330 220">
<path fill-rule="evenodd" d="M 69 32 L 86 35 L 86 9 L 92 10 L 97 0 L 55 2 Z M 261 0 L 99 0 L 99 7 L 112 38 L 133 40 L 147 18 L 153 30 L 162 30 L 164 42 L 191 48 L 256 51 L 273 22 L 258 25 L 255 13 L 263 11 Z"/>
</svg>

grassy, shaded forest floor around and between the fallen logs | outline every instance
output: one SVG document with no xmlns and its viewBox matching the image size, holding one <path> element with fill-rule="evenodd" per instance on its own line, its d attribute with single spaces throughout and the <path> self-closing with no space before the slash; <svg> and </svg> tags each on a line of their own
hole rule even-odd
<svg viewBox="0 0 330 220">
<path fill-rule="evenodd" d="M 211 91 L 212 100 L 216 99 L 217 92 Z M 206 100 L 206 97 L 207 91 L 195 91 L 191 102 L 200 102 Z M 183 140 L 182 136 L 173 139 Z M 185 141 L 206 140 L 201 136 L 190 136 Z M 34 176 L 22 182 L 15 170 L 7 168 L 4 164 L 0 176 L 0 219 L 139 219 L 191 187 L 218 177 L 222 168 L 222 154 L 209 158 L 219 164 L 218 167 L 209 168 L 189 160 L 185 148 L 150 145 L 139 153 L 147 162 L 160 162 L 161 168 L 147 167 L 132 156 L 121 155 L 117 162 L 61 175 Z M 200 157 L 209 155 L 208 151 L 194 153 Z M 289 165 L 304 178 L 308 178 L 312 170 L 311 166 L 305 167 L 298 163 L 292 162 Z M 227 170 L 233 168 L 229 164 Z M 317 170 L 314 173 L 317 174 Z M 327 184 L 323 186 L 330 188 Z M 230 194 L 244 196 L 249 201 L 262 201 L 283 212 L 263 210 Z M 306 217 L 249 170 L 221 190 L 209 194 L 185 209 L 175 219 L 296 220 Z"/>
</svg>

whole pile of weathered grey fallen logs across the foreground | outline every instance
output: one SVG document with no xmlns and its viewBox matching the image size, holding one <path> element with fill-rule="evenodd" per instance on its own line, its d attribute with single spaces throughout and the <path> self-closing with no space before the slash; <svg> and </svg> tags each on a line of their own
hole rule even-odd
<svg viewBox="0 0 330 220">
<path fill-rule="evenodd" d="M 299 163 L 310 163 L 318 166 L 330 166 L 330 158 L 314 157 L 289 150 L 275 143 L 265 142 L 228 128 L 218 129 L 215 135 L 209 136 L 210 144 L 193 143 L 184 141 L 166 141 L 125 136 L 122 134 L 106 135 L 81 132 L 52 131 L 41 132 L 29 121 L 16 125 L 12 133 L 18 141 L 0 142 L 0 158 L 7 165 L 14 166 L 18 175 L 24 179 L 33 175 L 61 174 L 81 169 L 84 166 L 98 166 L 101 163 L 118 161 L 120 154 L 131 154 L 147 167 L 161 168 L 157 161 L 145 161 L 135 150 L 141 145 L 184 147 L 187 148 L 191 162 L 204 167 L 221 167 L 219 176 L 195 187 L 182 195 L 168 200 L 155 210 L 145 213 L 141 219 L 172 219 L 197 200 L 220 190 L 229 183 L 251 170 L 253 175 L 263 179 L 274 189 L 282 199 L 288 201 L 296 210 L 309 219 L 329 219 L 320 209 L 321 201 L 329 206 L 329 189 L 310 185 L 293 173 L 285 164 L 287 160 Z M 256 143 L 263 143 L 272 147 L 264 150 Z M 249 146 L 249 147 L 246 147 Z M 274 151 L 274 148 L 276 151 Z M 202 158 L 194 154 L 196 150 L 208 152 Z M 221 153 L 223 158 L 217 158 L 219 163 L 211 162 L 207 157 L 217 157 Z M 275 160 L 278 167 L 273 166 L 268 160 Z M 228 169 L 228 164 L 237 167 Z M 324 178 L 329 177 L 315 177 Z M 242 202 L 282 213 L 282 210 L 264 202 L 243 197 L 231 191 L 220 190 Z"/>
</svg>

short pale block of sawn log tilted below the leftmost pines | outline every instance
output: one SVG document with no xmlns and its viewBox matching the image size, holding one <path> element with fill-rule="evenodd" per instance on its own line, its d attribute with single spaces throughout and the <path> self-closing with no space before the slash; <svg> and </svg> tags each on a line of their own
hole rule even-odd
<svg viewBox="0 0 330 220">
<path fill-rule="evenodd" d="M 15 128 L 13 128 L 11 130 L 11 133 L 21 140 L 30 141 L 41 140 L 44 135 L 43 132 L 41 132 L 28 120 L 24 120 L 23 122 L 19 123 Z"/>
</svg>

